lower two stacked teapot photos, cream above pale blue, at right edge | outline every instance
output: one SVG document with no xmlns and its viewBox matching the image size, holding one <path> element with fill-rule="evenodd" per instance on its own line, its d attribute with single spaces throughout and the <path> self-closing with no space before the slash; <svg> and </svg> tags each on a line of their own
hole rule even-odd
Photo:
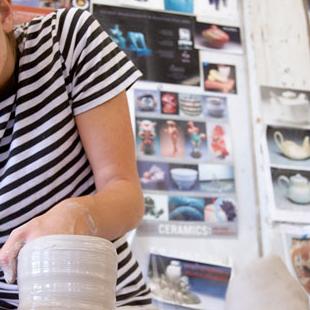
<svg viewBox="0 0 310 310">
<path fill-rule="evenodd" d="M 267 126 L 266 162 L 270 165 L 272 220 L 309 223 L 309 129 Z"/>
</svg>

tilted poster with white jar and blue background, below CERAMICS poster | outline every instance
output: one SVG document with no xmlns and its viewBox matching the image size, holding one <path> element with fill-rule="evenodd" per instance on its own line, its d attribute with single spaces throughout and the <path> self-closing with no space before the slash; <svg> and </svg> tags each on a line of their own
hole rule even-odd
<svg viewBox="0 0 310 310">
<path fill-rule="evenodd" d="M 229 266 L 151 254 L 149 284 L 158 309 L 224 309 Z"/>
</svg>

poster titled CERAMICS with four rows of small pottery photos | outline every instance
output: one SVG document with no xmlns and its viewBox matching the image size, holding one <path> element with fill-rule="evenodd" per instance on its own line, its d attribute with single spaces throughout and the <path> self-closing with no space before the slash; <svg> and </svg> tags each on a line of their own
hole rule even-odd
<svg viewBox="0 0 310 310">
<path fill-rule="evenodd" d="M 138 233 L 236 235 L 227 98 L 168 87 L 135 87 L 133 94 L 137 167 L 145 199 Z"/>
</svg>

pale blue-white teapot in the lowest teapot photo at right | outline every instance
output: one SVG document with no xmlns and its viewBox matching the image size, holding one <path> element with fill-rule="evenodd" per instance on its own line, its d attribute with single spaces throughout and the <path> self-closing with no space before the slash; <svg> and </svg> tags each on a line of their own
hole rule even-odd
<svg viewBox="0 0 310 310">
<path fill-rule="evenodd" d="M 284 189 L 285 196 L 298 204 L 310 203 L 310 182 L 301 174 L 290 178 L 281 175 L 278 178 L 280 188 Z"/>
</svg>

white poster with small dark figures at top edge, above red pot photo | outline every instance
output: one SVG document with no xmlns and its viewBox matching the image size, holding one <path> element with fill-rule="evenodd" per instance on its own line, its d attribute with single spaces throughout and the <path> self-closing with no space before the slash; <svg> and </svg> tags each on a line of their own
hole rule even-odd
<svg viewBox="0 0 310 310">
<path fill-rule="evenodd" d="M 239 5 L 238 0 L 194 0 L 194 14 L 206 20 L 229 20 L 238 25 Z"/>
</svg>

